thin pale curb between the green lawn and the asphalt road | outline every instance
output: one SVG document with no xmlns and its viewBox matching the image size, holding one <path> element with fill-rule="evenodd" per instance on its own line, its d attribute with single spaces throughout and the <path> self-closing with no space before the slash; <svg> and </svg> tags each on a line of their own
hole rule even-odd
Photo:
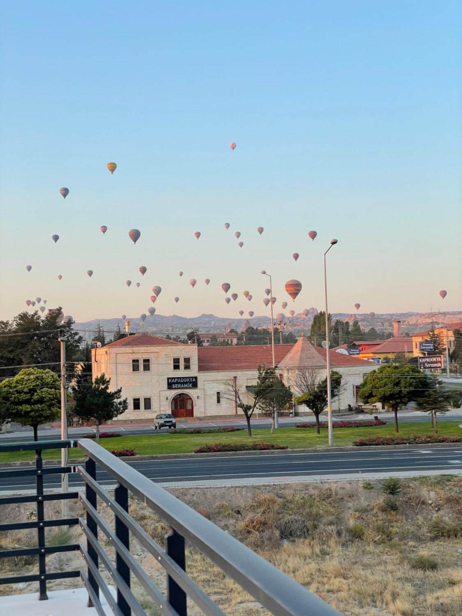
<svg viewBox="0 0 462 616">
<path fill-rule="evenodd" d="M 140 462 L 148 460 L 174 460 L 176 458 L 195 458 L 196 460 L 201 458 L 222 458 L 229 456 L 281 456 L 291 453 L 321 453 L 321 452 L 357 452 L 357 451 L 370 451 L 370 450 L 403 450 L 403 449 L 441 449 L 451 447 L 462 447 L 462 443 L 435 443 L 433 445 L 370 445 L 369 447 L 311 447 L 309 449 L 277 449 L 277 450 L 262 450 L 257 452 L 216 452 L 216 453 L 160 453 L 157 455 L 137 455 L 137 456 L 125 456 L 119 458 L 123 462 Z M 70 466 L 76 464 L 83 464 L 86 458 L 73 458 L 69 461 Z M 58 464 L 60 460 L 44 460 L 43 466 L 53 466 Z M 1 462 L 0 468 L 17 468 L 19 466 L 35 466 L 33 461 L 22 460 L 17 462 Z"/>
</svg>

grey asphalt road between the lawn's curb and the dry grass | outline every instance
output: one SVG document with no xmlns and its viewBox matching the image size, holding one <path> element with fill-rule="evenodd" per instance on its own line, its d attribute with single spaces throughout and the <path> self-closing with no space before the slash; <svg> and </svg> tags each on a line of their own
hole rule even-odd
<svg viewBox="0 0 462 616">
<path fill-rule="evenodd" d="M 462 472 L 462 447 L 435 449 L 361 449 L 354 452 L 286 453 L 255 456 L 200 456 L 169 460 L 145 460 L 128 463 L 154 482 L 177 483 L 223 479 L 269 479 L 270 477 L 323 476 L 326 479 L 344 474 L 370 472 L 429 471 Z M 30 468 L 30 467 L 28 467 Z M 1 469 L 0 469 L 1 470 Z M 97 471 L 97 480 L 113 484 L 106 472 Z M 78 474 L 71 474 L 70 487 L 83 485 Z M 60 487 L 60 476 L 44 476 L 47 488 Z M 31 477 L 4 477 L 1 490 L 32 490 Z"/>
</svg>

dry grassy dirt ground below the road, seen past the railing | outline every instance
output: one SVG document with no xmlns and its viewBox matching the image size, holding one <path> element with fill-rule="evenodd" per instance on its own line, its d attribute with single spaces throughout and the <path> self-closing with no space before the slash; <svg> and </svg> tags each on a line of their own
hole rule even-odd
<svg viewBox="0 0 462 616">
<path fill-rule="evenodd" d="M 292 484 L 267 487 L 180 489 L 172 492 L 203 516 L 257 551 L 346 615 L 460 616 L 462 614 L 462 477 Z M 71 515 L 81 516 L 71 502 Z M 59 503 L 46 503 L 59 517 Z M 103 517 L 112 522 L 105 506 Z M 166 525 L 136 499 L 132 516 L 163 544 Z M 3 506 L 2 522 L 34 518 L 31 505 Z M 83 542 L 78 527 L 69 535 L 47 529 L 55 543 Z M 113 549 L 100 538 L 113 559 Z M 34 532 L 2 533 L 1 548 L 36 545 Z M 131 553 L 165 590 L 156 559 L 132 539 Z M 49 571 L 84 568 L 79 553 L 53 554 Z M 110 576 L 103 570 L 103 577 Z M 268 614 L 195 549 L 187 550 L 188 573 L 229 616 Z M 0 575 L 36 571 L 36 557 L 1 559 Z M 80 586 L 57 580 L 50 589 Z M 1 594 L 33 592 L 36 584 L 1 586 Z M 136 582 L 132 588 L 149 616 L 158 614 Z M 190 606 L 190 614 L 201 614 Z"/>
</svg>

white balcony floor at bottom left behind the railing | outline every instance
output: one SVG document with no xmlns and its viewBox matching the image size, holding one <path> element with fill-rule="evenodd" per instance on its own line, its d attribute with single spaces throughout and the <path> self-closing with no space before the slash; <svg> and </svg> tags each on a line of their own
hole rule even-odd
<svg viewBox="0 0 462 616">
<path fill-rule="evenodd" d="M 115 589 L 109 587 L 115 596 Z M 0 597 L 0 614 L 10 616 L 97 616 L 94 607 L 87 607 L 88 594 L 84 588 L 48 591 L 47 601 L 39 601 L 38 593 L 11 594 Z M 113 615 L 106 599 L 100 601 L 107 616 Z"/>
</svg>

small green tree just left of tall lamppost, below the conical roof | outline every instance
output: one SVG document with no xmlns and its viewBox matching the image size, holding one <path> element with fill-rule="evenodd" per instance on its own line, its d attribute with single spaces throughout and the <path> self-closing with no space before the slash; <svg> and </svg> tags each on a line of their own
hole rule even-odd
<svg viewBox="0 0 462 616">
<path fill-rule="evenodd" d="M 335 370 L 330 373 L 331 400 L 336 399 L 342 391 L 342 375 Z M 327 407 L 327 379 L 322 379 L 314 368 L 301 368 L 293 376 L 294 389 L 300 395 L 294 397 L 298 405 L 305 405 L 316 419 L 316 432 L 320 434 L 319 416 Z"/>
</svg>

